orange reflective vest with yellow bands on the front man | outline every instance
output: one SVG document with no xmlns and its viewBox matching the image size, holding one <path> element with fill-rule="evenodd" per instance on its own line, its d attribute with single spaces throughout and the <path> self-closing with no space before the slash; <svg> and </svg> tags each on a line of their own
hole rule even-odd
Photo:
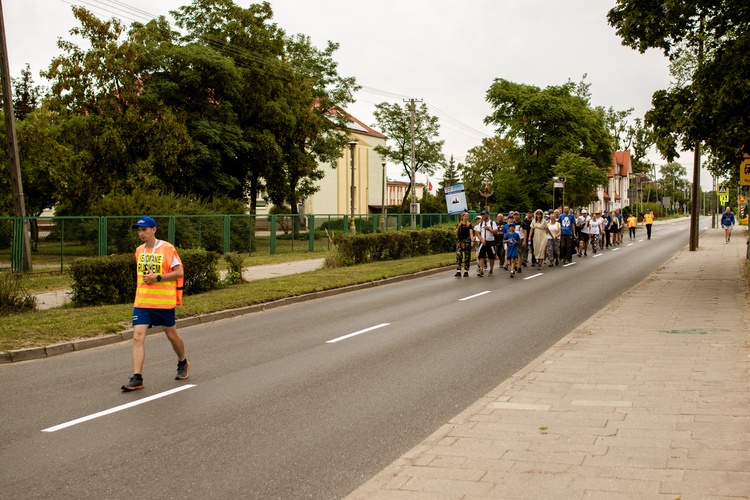
<svg viewBox="0 0 750 500">
<path fill-rule="evenodd" d="M 135 250 L 135 262 L 138 266 L 138 285 L 135 289 L 135 307 L 147 309 L 174 309 L 182 305 L 183 278 L 145 283 L 143 275 L 149 271 L 154 274 L 172 272 L 172 266 L 182 265 L 177 249 L 166 241 L 156 240 L 155 248 L 146 249 L 145 243 Z"/>
</svg>

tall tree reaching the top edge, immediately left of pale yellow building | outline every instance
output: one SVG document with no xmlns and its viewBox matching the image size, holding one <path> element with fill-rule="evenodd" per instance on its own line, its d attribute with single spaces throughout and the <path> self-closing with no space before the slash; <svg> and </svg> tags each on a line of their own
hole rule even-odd
<svg viewBox="0 0 750 500">
<path fill-rule="evenodd" d="M 184 41 L 210 44 L 241 68 L 235 112 L 247 140 L 237 153 L 242 186 L 255 204 L 261 186 L 276 205 L 297 204 L 335 165 L 348 140 L 343 109 L 353 101 L 354 78 L 338 74 L 338 45 L 314 47 L 309 37 L 287 36 L 272 23 L 268 2 L 247 9 L 232 0 L 194 0 L 173 12 Z"/>
</svg>

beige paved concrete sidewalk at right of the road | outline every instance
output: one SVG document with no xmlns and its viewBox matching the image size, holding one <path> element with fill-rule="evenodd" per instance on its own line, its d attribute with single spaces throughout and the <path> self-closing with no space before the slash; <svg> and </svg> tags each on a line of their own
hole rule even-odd
<svg viewBox="0 0 750 500">
<path fill-rule="evenodd" d="M 349 498 L 750 498 L 734 233 L 703 233 Z"/>
</svg>

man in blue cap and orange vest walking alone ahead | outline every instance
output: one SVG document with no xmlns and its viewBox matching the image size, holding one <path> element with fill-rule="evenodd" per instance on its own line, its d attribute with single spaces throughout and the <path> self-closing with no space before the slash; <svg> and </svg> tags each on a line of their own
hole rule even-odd
<svg viewBox="0 0 750 500">
<path fill-rule="evenodd" d="M 156 239 L 156 221 L 141 217 L 133 224 L 143 242 L 135 251 L 138 284 L 133 305 L 133 376 L 122 390 L 143 389 L 143 362 L 146 358 L 146 331 L 161 325 L 177 354 L 175 380 L 188 378 L 190 363 L 185 358 L 185 343 L 177 333 L 176 306 L 182 305 L 183 269 L 177 250 Z"/>
</svg>

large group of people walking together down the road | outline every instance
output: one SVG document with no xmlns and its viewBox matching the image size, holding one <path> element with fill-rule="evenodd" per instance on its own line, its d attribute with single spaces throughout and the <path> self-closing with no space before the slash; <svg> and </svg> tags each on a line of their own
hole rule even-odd
<svg viewBox="0 0 750 500">
<path fill-rule="evenodd" d="M 653 213 L 648 211 L 646 216 L 644 223 L 651 239 Z M 478 277 L 484 277 L 485 271 L 493 276 L 497 261 L 514 278 L 529 264 L 539 270 L 565 265 L 573 261 L 573 254 L 588 256 L 589 246 L 597 253 L 599 248 L 620 245 L 625 227 L 634 239 L 637 222 L 632 214 L 624 218 L 619 208 L 611 214 L 604 210 L 592 215 L 586 209 L 573 214 L 568 206 L 562 210 L 529 210 L 523 219 L 520 212 L 511 211 L 507 217 L 497 214 L 495 220 L 483 210 L 473 224 L 464 211 L 456 227 L 455 276 L 469 277 L 472 248 L 476 250 Z"/>
</svg>

